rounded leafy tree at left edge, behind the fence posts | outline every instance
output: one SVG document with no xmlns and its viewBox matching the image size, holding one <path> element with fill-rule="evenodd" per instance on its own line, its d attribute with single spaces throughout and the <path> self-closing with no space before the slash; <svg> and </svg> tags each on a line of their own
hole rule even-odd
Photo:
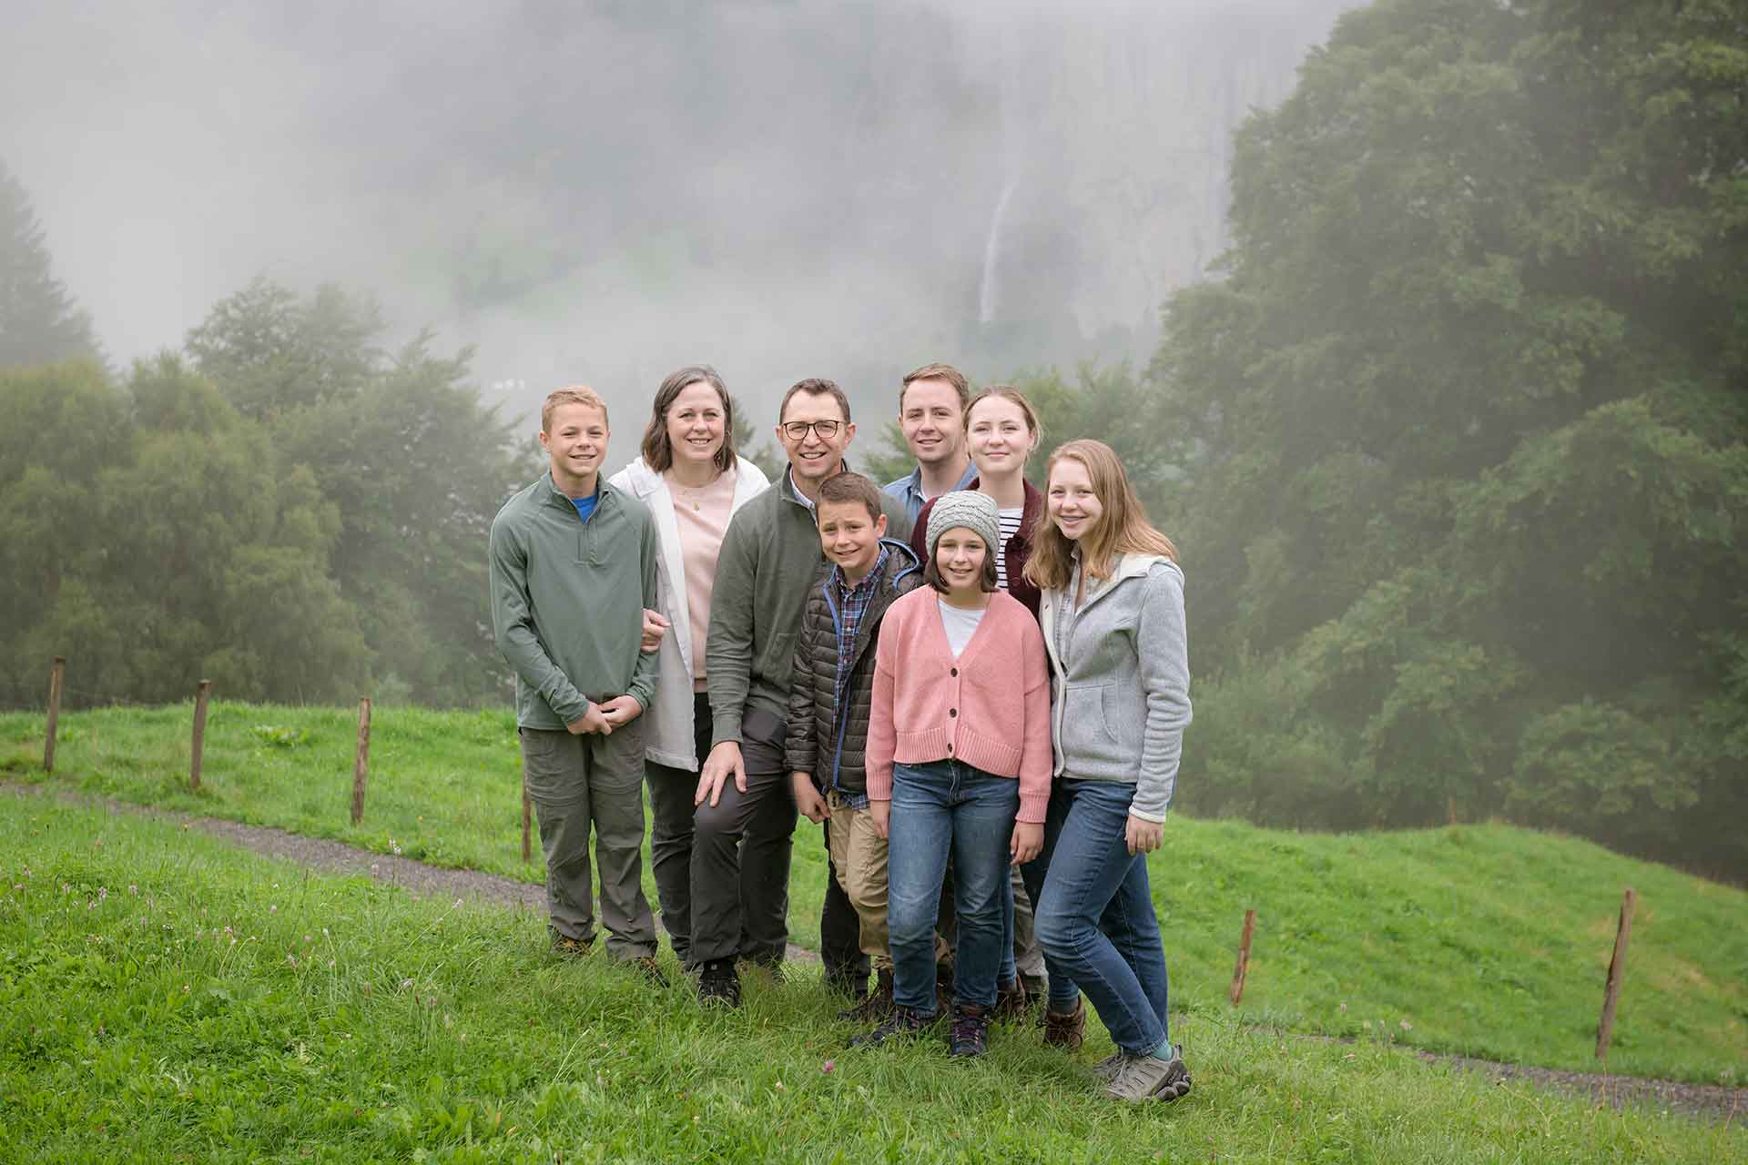
<svg viewBox="0 0 1748 1165">
<path fill-rule="evenodd" d="M 0 475 L 9 688 L 66 655 L 73 704 L 182 699 L 201 678 L 234 699 L 357 692 L 334 508 L 212 384 L 173 356 L 128 391 L 89 362 L 0 370 L 0 410 L 35 437 Z"/>
</svg>

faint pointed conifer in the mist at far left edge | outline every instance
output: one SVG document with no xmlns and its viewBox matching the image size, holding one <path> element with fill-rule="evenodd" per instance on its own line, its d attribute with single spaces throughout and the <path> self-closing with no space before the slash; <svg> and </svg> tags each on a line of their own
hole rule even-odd
<svg viewBox="0 0 1748 1165">
<path fill-rule="evenodd" d="M 98 358 L 91 318 L 54 278 L 42 224 L 0 162 L 0 367 Z"/>
</svg>

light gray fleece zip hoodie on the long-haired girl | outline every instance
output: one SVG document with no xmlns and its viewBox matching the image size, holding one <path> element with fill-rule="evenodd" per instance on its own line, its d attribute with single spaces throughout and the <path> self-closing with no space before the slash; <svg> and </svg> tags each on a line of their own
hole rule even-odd
<svg viewBox="0 0 1748 1165">
<path fill-rule="evenodd" d="M 1073 604 L 1080 557 L 1038 608 L 1051 655 L 1056 776 L 1134 784 L 1129 814 L 1164 821 L 1190 723 L 1183 571 L 1171 559 L 1124 554 L 1110 578 Z"/>
</svg>

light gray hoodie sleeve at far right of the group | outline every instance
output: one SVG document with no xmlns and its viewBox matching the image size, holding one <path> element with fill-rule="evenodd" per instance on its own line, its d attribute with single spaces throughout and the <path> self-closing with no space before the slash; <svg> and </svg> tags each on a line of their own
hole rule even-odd
<svg viewBox="0 0 1748 1165">
<path fill-rule="evenodd" d="M 1178 782 L 1183 730 L 1190 723 L 1190 660 L 1183 631 L 1183 575 L 1159 562 L 1147 575 L 1136 632 L 1147 725 L 1141 735 L 1141 774 L 1129 812 L 1141 821 L 1164 821 Z"/>
</svg>

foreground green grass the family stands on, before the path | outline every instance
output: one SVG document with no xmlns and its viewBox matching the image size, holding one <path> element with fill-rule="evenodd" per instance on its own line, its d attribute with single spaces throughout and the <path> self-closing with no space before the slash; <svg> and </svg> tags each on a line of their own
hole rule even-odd
<svg viewBox="0 0 1748 1165">
<path fill-rule="evenodd" d="M 811 975 L 701 1013 L 528 912 L 411 900 L 173 824 L 0 796 L 0 1158 L 1720 1162 L 1748 1134 L 1613 1113 L 1377 1041 L 1175 1020 L 1196 1092 L 1098 1099 L 1031 1029 L 844 1051 Z"/>
</svg>

